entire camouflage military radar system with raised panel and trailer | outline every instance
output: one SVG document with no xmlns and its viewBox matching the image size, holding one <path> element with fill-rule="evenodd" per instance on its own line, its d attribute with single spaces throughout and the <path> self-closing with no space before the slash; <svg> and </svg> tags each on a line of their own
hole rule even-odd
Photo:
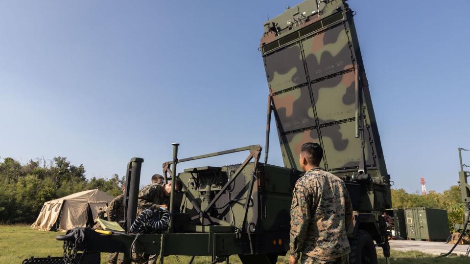
<svg viewBox="0 0 470 264">
<path fill-rule="evenodd" d="M 289 250 L 290 203 L 302 176 L 297 156 L 305 142 L 317 142 L 323 166 L 344 179 L 352 198 L 351 263 L 377 263 L 376 246 L 389 257 L 386 224 L 380 216 L 391 207 L 390 177 L 380 145 L 369 86 L 353 22 L 345 0 L 306 0 L 264 23 L 260 51 L 269 87 L 264 163 L 262 148 L 243 148 L 178 157 L 163 164 L 172 184 L 171 218 L 164 232 L 132 234 L 143 159 L 133 158 L 126 175 L 127 232 L 75 228 L 63 240 L 64 260 L 77 251 L 123 252 L 124 263 L 138 255 L 211 256 L 212 263 L 238 255 L 243 263 L 275 263 Z M 269 165 L 269 134 L 274 116 L 284 167 Z M 186 168 L 186 161 L 247 152 L 236 165 Z M 171 169 L 170 169 L 171 167 Z M 169 175 L 171 176 L 169 176 Z M 375 241 L 375 242 L 374 242 Z M 80 256 L 82 258 L 83 255 Z"/>
</svg>

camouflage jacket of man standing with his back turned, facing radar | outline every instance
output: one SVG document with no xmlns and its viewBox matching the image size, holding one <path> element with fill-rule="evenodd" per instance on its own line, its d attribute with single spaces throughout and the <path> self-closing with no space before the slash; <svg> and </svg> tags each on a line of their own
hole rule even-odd
<svg viewBox="0 0 470 264">
<path fill-rule="evenodd" d="M 352 224 L 351 198 L 343 180 L 315 168 L 294 187 L 290 207 L 290 254 L 331 260 L 351 252 L 346 228 Z"/>
</svg>

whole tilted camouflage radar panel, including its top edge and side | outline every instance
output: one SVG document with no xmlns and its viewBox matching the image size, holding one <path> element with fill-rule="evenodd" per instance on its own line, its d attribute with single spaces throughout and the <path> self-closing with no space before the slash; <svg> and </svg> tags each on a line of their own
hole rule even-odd
<svg viewBox="0 0 470 264">
<path fill-rule="evenodd" d="M 388 178 L 367 78 L 343 0 L 306 0 L 265 22 L 261 38 L 284 165 L 300 169 L 305 142 L 330 172 Z M 385 179 L 386 180 L 386 179 Z"/>
</svg>

